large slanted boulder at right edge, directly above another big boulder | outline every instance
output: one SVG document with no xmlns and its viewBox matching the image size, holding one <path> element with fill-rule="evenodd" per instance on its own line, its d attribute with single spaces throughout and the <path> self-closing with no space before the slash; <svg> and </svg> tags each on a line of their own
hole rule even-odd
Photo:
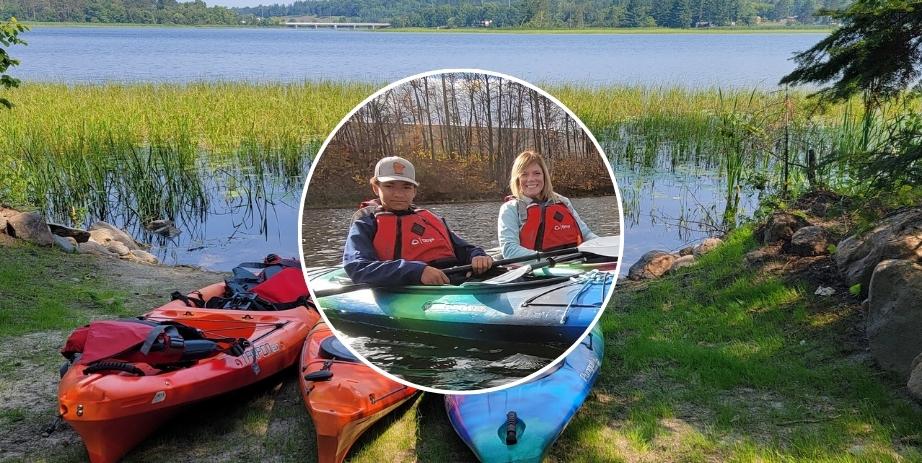
<svg viewBox="0 0 922 463">
<path fill-rule="evenodd" d="M 848 286 L 861 284 L 867 295 L 874 268 L 882 260 L 922 262 L 922 208 L 909 209 L 881 221 L 863 236 L 852 235 L 836 246 L 836 264 Z"/>
</svg>

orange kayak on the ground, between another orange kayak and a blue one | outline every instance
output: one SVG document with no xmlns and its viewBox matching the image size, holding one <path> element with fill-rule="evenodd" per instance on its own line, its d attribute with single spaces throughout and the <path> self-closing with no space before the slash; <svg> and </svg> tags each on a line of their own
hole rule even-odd
<svg viewBox="0 0 922 463">
<path fill-rule="evenodd" d="M 307 335 L 300 370 L 319 463 L 342 462 L 366 429 L 416 394 L 352 357 L 323 322 Z"/>
</svg>

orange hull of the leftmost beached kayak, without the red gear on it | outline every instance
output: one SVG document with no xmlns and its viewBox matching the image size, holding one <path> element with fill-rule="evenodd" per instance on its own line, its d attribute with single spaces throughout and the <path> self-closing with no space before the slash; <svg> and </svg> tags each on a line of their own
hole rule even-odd
<svg viewBox="0 0 922 463">
<path fill-rule="evenodd" d="M 223 297 L 225 289 L 225 283 L 218 283 L 187 297 L 207 301 Z M 235 339 L 236 352 L 222 346 L 205 358 L 171 367 L 102 362 L 91 368 L 74 363 L 58 386 L 59 413 L 80 434 L 93 463 L 117 461 L 186 405 L 293 365 L 304 337 L 319 318 L 316 309 L 304 305 L 253 311 L 207 309 L 174 300 L 143 319 L 175 321 L 205 335 Z M 99 371 L 100 364 L 112 369 Z"/>
</svg>

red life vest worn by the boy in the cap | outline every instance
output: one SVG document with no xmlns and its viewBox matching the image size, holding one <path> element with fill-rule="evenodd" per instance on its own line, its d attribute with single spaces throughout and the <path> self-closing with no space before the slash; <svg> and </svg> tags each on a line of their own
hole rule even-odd
<svg viewBox="0 0 922 463">
<path fill-rule="evenodd" d="M 379 259 L 426 263 L 457 259 L 448 227 L 435 214 L 425 209 L 401 215 L 379 209 L 374 214 L 378 230 L 373 244 Z"/>
</svg>

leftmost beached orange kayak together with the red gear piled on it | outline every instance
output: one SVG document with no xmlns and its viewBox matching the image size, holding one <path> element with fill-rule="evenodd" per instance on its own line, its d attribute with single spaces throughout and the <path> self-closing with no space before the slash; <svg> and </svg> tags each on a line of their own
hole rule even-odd
<svg viewBox="0 0 922 463">
<path fill-rule="evenodd" d="M 274 256 L 270 256 L 274 257 Z M 274 263 L 273 263 L 274 262 Z M 234 277 L 136 319 L 93 322 L 62 349 L 59 414 L 90 461 L 119 460 L 184 407 L 290 367 L 320 314 L 296 261 Z"/>
</svg>

